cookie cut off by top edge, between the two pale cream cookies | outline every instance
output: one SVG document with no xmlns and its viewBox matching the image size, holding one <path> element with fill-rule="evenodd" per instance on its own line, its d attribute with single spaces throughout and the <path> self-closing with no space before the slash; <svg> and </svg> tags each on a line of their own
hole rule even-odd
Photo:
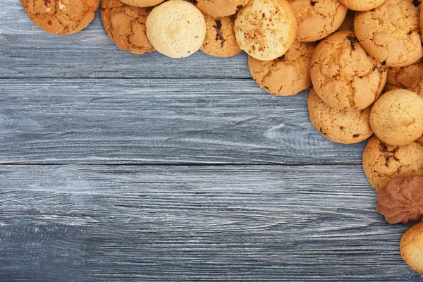
<svg viewBox="0 0 423 282">
<path fill-rule="evenodd" d="M 203 13 L 213 18 L 223 18 L 235 15 L 249 0 L 192 0 Z"/>
</svg>

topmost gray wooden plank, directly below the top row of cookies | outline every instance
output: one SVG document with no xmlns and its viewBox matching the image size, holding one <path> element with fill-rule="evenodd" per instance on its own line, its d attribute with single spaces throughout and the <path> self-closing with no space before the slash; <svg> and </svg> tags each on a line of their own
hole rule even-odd
<svg viewBox="0 0 423 282">
<path fill-rule="evenodd" d="M 245 54 L 168 59 L 119 50 L 97 12 L 76 35 L 49 35 L 32 24 L 18 0 L 0 2 L 0 78 L 250 78 Z"/>
</svg>

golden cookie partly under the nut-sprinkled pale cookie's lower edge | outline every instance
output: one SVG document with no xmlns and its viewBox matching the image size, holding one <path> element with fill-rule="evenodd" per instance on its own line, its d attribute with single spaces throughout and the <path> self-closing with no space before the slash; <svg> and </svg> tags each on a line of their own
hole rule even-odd
<svg viewBox="0 0 423 282">
<path fill-rule="evenodd" d="M 309 66 L 313 50 L 313 43 L 296 41 L 285 55 L 273 61 L 259 61 L 248 56 L 248 67 L 252 78 L 267 92 L 292 96 L 312 86 Z"/>
</svg>

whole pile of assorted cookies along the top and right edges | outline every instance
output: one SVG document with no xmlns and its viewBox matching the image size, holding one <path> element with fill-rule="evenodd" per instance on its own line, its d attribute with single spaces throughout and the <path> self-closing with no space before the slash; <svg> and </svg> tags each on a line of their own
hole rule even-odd
<svg viewBox="0 0 423 282">
<path fill-rule="evenodd" d="M 71 34 L 97 0 L 20 0 L 47 32 Z M 102 0 L 104 28 L 134 54 L 248 54 L 252 78 L 292 96 L 312 87 L 309 117 L 333 142 L 367 140 L 364 171 L 389 223 L 423 216 L 423 48 L 419 1 Z M 423 274 L 423 223 L 400 243 Z"/>
</svg>

